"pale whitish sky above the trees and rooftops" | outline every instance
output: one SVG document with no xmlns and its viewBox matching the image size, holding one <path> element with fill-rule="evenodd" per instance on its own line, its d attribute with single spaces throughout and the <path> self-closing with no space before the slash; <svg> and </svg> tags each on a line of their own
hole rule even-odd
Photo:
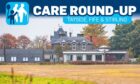
<svg viewBox="0 0 140 84">
<path fill-rule="evenodd" d="M 137 17 L 133 18 L 137 19 Z M 35 17 L 31 16 L 28 25 L 24 26 L 11 26 L 7 25 L 5 17 L 0 18 L 0 35 L 4 33 L 10 33 L 16 37 L 20 35 L 26 35 L 31 40 L 36 36 L 50 36 L 53 35 L 53 32 L 59 28 L 59 25 L 63 27 L 65 31 L 72 32 L 73 36 L 76 36 L 82 31 L 82 28 L 86 24 L 64 24 L 62 17 Z M 106 24 L 105 31 L 107 31 L 106 36 L 111 37 L 113 35 L 112 30 L 115 28 L 114 24 Z"/>
</svg>

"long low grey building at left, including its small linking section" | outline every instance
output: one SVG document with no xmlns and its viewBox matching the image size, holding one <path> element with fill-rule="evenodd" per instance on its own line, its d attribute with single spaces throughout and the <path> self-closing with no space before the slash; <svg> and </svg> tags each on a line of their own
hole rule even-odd
<svg viewBox="0 0 140 84">
<path fill-rule="evenodd" d="M 5 53 L 5 54 L 4 54 Z M 52 50 L 43 49 L 0 49 L 0 62 L 56 62 Z"/>
</svg>

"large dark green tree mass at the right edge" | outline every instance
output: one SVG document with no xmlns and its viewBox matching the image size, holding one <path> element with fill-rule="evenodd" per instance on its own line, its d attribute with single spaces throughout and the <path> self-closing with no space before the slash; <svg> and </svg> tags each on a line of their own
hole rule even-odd
<svg viewBox="0 0 140 84">
<path fill-rule="evenodd" d="M 133 53 L 134 57 L 140 54 L 140 21 L 134 21 L 126 25 L 116 25 L 114 36 L 110 39 L 113 49 L 125 49 Z M 131 56 L 133 57 L 133 56 Z"/>
</svg>

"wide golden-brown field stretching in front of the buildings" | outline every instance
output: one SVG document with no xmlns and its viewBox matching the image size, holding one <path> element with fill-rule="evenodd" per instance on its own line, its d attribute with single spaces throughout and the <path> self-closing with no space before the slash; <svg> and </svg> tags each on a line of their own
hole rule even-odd
<svg viewBox="0 0 140 84">
<path fill-rule="evenodd" d="M 9 73 L 11 67 L 14 68 L 16 74 L 32 74 L 35 77 L 34 81 L 38 81 L 41 77 L 41 81 L 44 81 L 45 78 L 52 78 L 53 81 L 61 81 L 61 79 L 66 81 L 82 80 L 82 82 L 93 82 L 92 84 L 94 84 L 94 82 L 97 84 L 140 84 L 140 65 L 138 64 L 0 65 L 0 72 Z"/>
</svg>

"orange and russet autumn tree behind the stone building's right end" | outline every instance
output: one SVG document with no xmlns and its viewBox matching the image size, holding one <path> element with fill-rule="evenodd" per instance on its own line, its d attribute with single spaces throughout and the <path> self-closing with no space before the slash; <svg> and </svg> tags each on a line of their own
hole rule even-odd
<svg viewBox="0 0 140 84">
<path fill-rule="evenodd" d="M 101 24 L 90 24 L 83 28 L 83 34 L 88 40 L 92 41 L 95 47 L 107 45 L 108 39 L 105 36 L 106 32 L 104 31 L 104 28 L 105 26 Z"/>
</svg>

